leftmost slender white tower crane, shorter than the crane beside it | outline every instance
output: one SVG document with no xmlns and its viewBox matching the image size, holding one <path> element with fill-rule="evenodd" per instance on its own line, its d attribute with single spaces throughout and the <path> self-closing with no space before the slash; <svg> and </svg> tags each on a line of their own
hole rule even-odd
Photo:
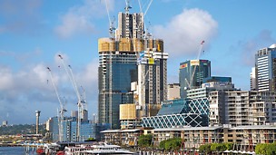
<svg viewBox="0 0 276 155">
<path fill-rule="evenodd" d="M 64 108 L 64 103 L 61 102 L 60 96 L 57 92 L 57 88 L 56 88 L 56 85 L 55 85 L 54 78 L 53 78 L 53 75 L 51 73 L 50 67 L 47 67 L 47 70 L 50 73 L 51 81 L 52 81 L 53 86 L 54 86 L 54 92 L 55 92 L 57 100 L 60 104 L 60 111 L 59 111 L 59 117 L 58 117 L 58 140 L 63 141 L 63 138 L 64 138 L 64 112 L 66 112 L 66 110 Z"/>
</svg>

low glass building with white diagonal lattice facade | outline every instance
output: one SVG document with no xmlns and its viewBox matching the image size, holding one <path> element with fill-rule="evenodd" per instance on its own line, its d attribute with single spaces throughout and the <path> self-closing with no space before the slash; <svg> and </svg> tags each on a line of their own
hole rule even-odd
<svg viewBox="0 0 276 155">
<path fill-rule="evenodd" d="M 173 128 L 177 126 L 202 127 L 209 125 L 208 100 L 171 100 L 163 102 L 156 116 L 143 117 L 143 127 Z"/>
</svg>

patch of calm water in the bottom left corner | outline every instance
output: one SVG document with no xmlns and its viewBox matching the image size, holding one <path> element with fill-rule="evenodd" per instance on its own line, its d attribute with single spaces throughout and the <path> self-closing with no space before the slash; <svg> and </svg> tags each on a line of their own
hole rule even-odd
<svg viewBox="0 0 276 155">
<path fill-rule="evenodd" d="M 0 147 L 0 155 L 36 155 L 36 152 L 33 148 L 26 153 L 25 147 Z"/>
</svg>

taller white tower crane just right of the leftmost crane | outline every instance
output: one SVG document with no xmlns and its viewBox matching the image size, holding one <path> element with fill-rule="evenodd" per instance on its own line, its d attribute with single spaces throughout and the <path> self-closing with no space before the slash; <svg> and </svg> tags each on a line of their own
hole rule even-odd
<svg viewBox="0 0 276 155">
<path fill-rule="evenodd" d="M 81 98 L 81 95 L 80 95 L 80 92 L 78 90 L 78 87 L 77 87 L 77 84 L 75 82 L 75 79 L 74 79 L 74 73 L 72 71 L 72 67 L 71 65 L 68 65 L 68 67 L 65 66 L 65 63 L 64 63 L 64 58 L 61 54 L 58 55 L 58 57 L 60 58 L 60 60 L 62 61 L 63 63 L 63 66 L 64 66 L 64 70 L 65 72 L 67 73 L 72 85 L 73 85 L 73 88 L 74 88 L 74 92 L 76 93 L 76 96 L 77 96 L 77 107 L 78 107 L 78 117 L 77 117 L 77 131 L 76 131 L 76 140 L 79 141 L 80 140 L 80 137 L 81 137 L 81 121 L 82 121 L 82 116 L 83 116 L 83 113 L 84 113 L 84 104 L 86 103 L 84 100 L 82 100 Z"/>
</svg>

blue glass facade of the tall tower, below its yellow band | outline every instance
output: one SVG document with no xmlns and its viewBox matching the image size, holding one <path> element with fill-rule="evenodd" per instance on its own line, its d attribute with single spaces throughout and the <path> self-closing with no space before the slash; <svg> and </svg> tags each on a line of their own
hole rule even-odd
<svg viewBox="0 0 276 155">
<path fill-rule="evenodd" d="M 133 102 L 131 82 L 137 81 L 137 77 L 135 53 L 100 54 L 98 102 L 100 123 L 109 123 L 111 129 L 120 129 L 120 104 Z"/>
</svg>

